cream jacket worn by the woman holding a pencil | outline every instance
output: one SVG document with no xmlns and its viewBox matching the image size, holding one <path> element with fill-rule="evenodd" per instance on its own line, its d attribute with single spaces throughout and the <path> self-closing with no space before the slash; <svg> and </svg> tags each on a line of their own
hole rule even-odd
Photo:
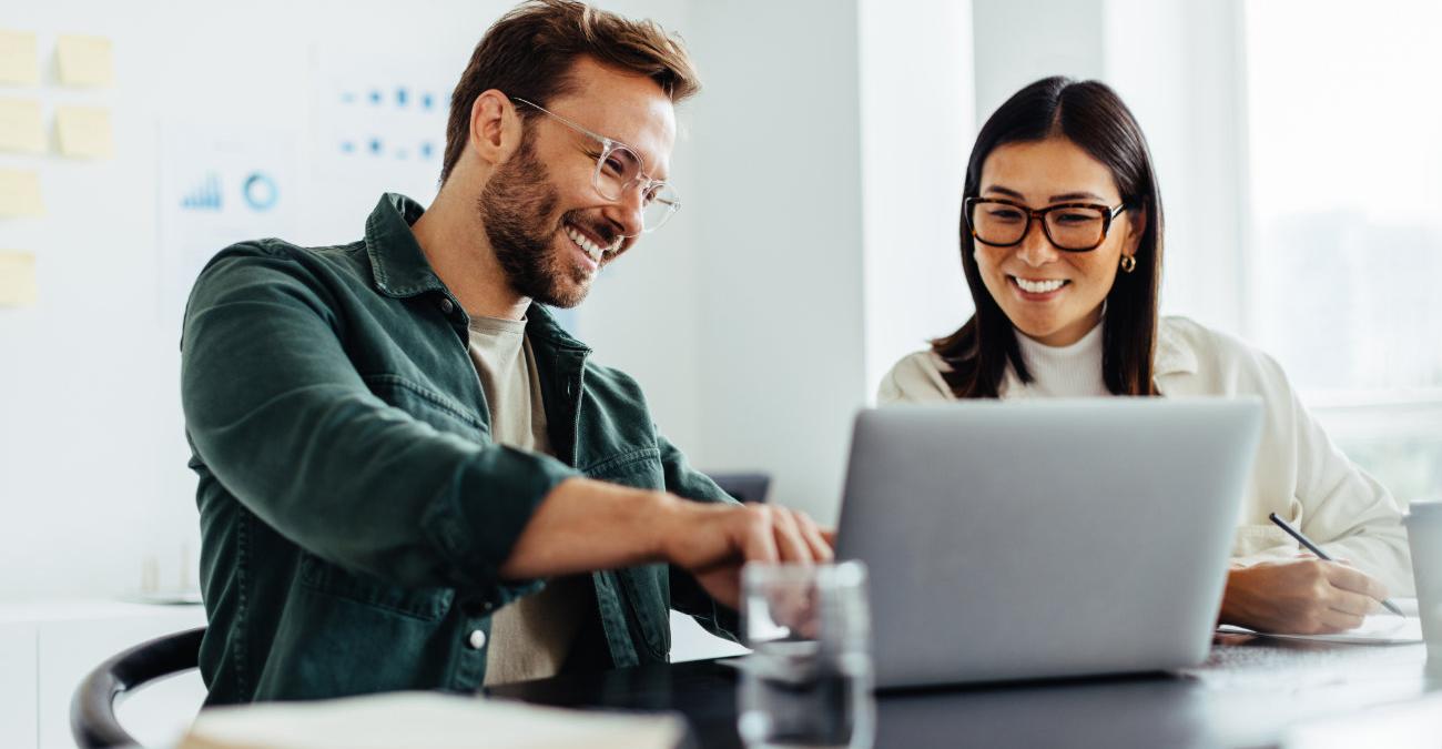
<svg viewBox="0 0 1442 749">
<path fill-rule="evenodd" d="M 877 401 L 955 401 L 932 351 L 907 355 L 881 381 Z M 1412 561 L 1402 508 L 1376 479 L 1337 449 L 1306 413 L 1282 368 L 1266 354 L 1185 317 L 1164 317 L 1154 381 L 1162 395 L 1260 395 L 1262 443 L 1231 548 L 1233 563 L 1289 559 L 1299 544 L 1268 520 L 1276 512 L 1335 559 L 1412 596 Z M 1007 368 L 1002 400 L 1035 397 Z"/>
</svg>

